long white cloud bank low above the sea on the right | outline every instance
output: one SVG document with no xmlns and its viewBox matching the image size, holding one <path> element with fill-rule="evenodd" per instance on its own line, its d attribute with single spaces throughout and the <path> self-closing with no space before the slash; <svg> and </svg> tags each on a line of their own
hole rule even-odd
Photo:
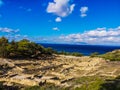
<svg viewBox="0 0 120 90">
<path fill-rule="evenodd" d="M 60 36 L 59 39 L 64 42 L 88 44 L 120 44 L 120 27 L 117 28 L 97 28 L 89 30 L 82 34 L 70 34 L 67 36 Z"/>
</svg>

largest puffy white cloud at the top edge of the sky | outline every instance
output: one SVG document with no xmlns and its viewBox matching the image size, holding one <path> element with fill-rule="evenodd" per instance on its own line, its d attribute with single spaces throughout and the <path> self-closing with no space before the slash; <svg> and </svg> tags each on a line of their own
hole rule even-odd
<svg viewBox="0 0 120 90">
<path fill-rule="evenodd" d="M 53 13 L 59 17 L 66 17 L 74 11 L 75 4 L 70 5 L 70 0 L 54 0 L 49 2 L 48 13 Z"/>
</svg>

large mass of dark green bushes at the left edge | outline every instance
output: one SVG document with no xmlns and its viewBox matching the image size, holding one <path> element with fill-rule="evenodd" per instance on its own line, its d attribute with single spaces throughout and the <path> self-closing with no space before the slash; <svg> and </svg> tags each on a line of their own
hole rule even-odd
<svg viewBox="0 0 120 90">
<path fill-rule="evenodd" d="M 44 48 L 26 39 L 8 42 L 8 39 L 0 38 L 0 57 L 3 58 L 39 58 L 52 55 L 54 52 L 52 48 Z"/>
</svg>

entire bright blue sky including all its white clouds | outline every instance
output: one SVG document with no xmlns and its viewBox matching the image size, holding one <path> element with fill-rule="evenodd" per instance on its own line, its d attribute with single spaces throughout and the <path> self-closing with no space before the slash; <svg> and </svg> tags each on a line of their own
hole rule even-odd
<svg viewBox="0 0 120 90">
<path fill-rule="evenodd" d="M 0 0 L 0 36 L 120 45 L 120 0 Z"/>
</svg>

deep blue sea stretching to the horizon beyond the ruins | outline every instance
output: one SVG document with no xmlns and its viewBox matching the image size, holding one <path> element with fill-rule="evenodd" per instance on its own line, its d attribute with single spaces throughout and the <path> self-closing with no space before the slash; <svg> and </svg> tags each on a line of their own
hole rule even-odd
<svg viewBox="0 0 120 90">
<path fill-rule="evenodd" d="M 44 47 L 51 47 L 56 51 L 66 52 L 79 52 L 84 55 L 90 55 L 94 52 L 104 54 L 116 49 L 120 49 L 120 46 L 102 46 L 102 45 L 69 45 L 69 44 L 41 44 Z"/>
</svg>

